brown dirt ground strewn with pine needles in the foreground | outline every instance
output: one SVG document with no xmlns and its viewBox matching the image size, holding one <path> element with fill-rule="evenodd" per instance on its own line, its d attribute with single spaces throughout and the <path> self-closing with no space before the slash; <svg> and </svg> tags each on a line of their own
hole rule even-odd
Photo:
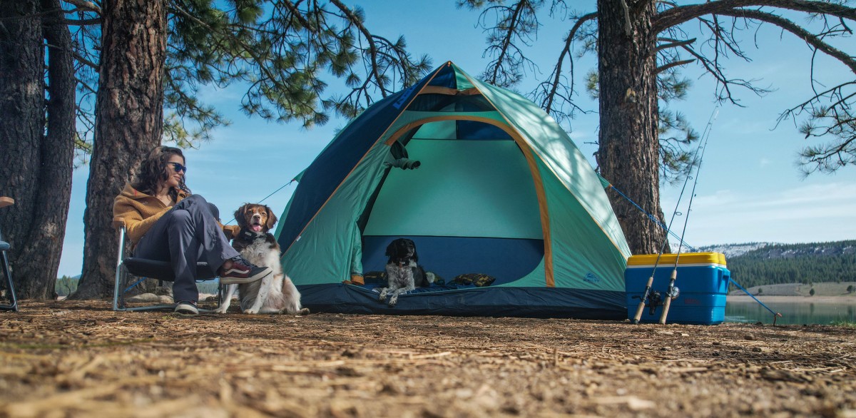
<svg viewBox="0 0 856 418">
<path fill-rule="evenodd" d="M 0 416 L 856 417 L 856 329 L 0 312 Z"/>
</svg>

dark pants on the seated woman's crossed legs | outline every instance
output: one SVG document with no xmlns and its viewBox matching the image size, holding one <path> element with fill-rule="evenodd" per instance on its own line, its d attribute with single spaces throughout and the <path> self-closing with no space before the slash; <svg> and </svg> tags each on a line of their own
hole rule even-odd
<svg viewBox="0 0 856 418">
<path fill-rule="evenodd" d="M 211 272 L 217 272 L 224 260 L 238 255 L 217 224 L 218 216 L 217 206 L 192 194 L 164 213 L 137 243 L 135 257 L 172 264 L 175 302 L 199 300 L 197 261 L 207 262 Z"/>
</svg>

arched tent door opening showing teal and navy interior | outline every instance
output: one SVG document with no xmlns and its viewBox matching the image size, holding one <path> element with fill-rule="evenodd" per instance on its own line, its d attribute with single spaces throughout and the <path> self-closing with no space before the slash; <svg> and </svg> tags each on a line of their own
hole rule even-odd
<svg viewBox="0 0 856 418">
<path fill-rule="evenodd" d="M 360 225 L 364 272 L 382 272 L 386 247 L 401 237 L 412 239 L 419 264 L 447 283 L 482 273 L 503 284 L 538 266 L 544 258 L 538 197 L 526 158 L 508 134 L 449 120 L 425 123 L 401 142 L 421 164 L 390 169 L 378 186 Z"/>
</svg>

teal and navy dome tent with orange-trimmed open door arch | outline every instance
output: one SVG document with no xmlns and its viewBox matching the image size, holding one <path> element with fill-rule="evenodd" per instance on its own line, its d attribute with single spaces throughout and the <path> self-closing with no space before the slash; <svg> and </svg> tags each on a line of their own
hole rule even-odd
<svg viewBox="0 0 856 418">
<path fill-rule="evenodd" d="M 313 312 L 627 318 L 630 250 L 597 173 L 544 110 L 454 63 L 372 104 L 297 180 L 276 238 Z M 399 237 L 444 285 L 390 308 L 345 284 Z M 453 283 L 467 273 L 496 280 Z"/>
</svg>

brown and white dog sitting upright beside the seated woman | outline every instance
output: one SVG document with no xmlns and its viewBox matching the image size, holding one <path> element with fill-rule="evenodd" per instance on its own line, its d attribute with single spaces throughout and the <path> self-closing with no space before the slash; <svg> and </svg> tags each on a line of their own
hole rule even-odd
<svg viewBox="0 0 856 418">
<path fill-rule="evenodd" d="M 248 284 L 229 284 L 223 304 L 215 312 L 225 314 L 232 296 L 238 290 L 241 311 L 245 314 L 309 314 L 300 306 L 300 292 L 282 272 L 279 244 L 268 232 L 276 224 L 276 215 L 270 207 L 252 203 L 235 211 L 235 221 L 241 233 L 232 240 L 232 247 L 247 261 L 256 266 L 269 266 L 273 273 Z"/>
</svg>

